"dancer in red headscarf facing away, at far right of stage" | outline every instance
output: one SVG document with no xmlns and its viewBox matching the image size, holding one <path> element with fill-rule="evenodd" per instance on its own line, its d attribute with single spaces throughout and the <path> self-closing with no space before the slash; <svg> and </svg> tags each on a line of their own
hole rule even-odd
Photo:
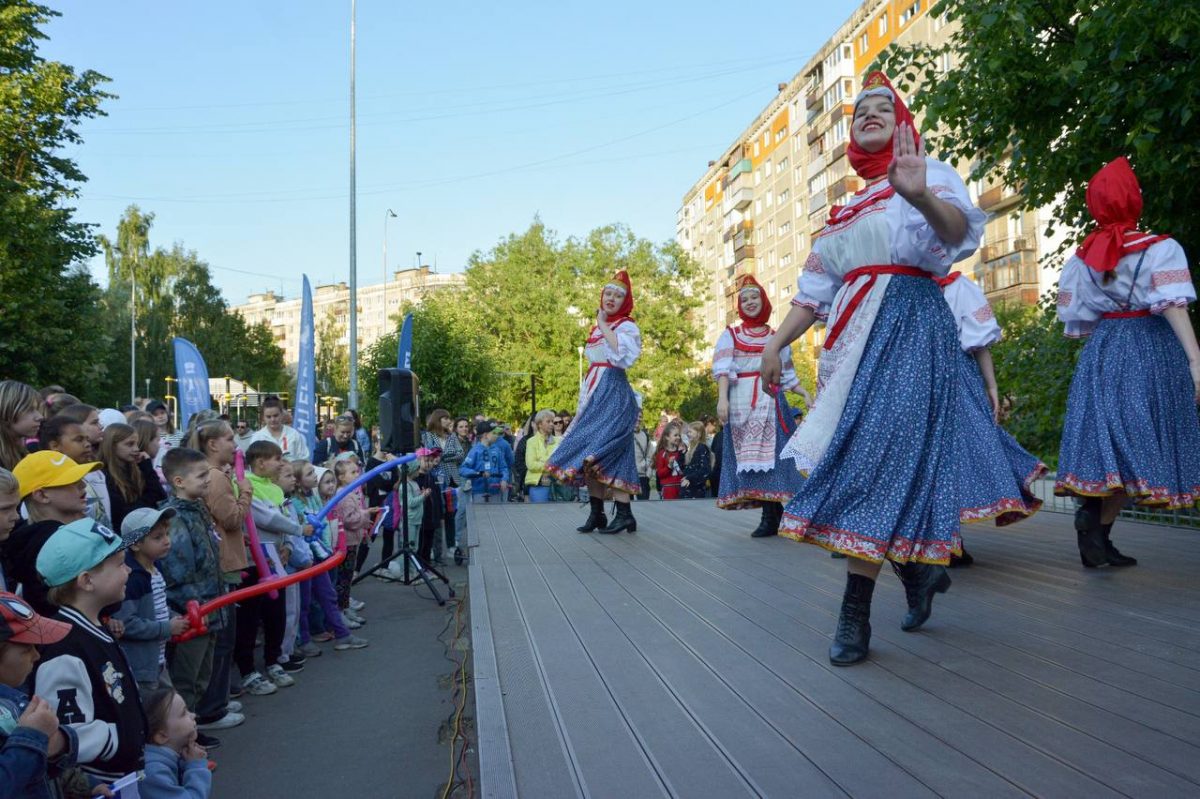
<svg viewBox="0 0 1200 799">
<path fill-rule="evenodd" d="M 1097 226 L 1063 266 L 1058 319 L 1088 336 L 1075 365 L 1055 493 L 1075 515 L 1085 566 L 1132 566 L 1112 546 L 1130 498 L 1175 510 L 1200 500 L 1200 348 L 1188 319 L 1196 299 L 1183 248 L 1136 229 L 1141 188 L 1117 158 L 1087 184 Z"/>
</svg>

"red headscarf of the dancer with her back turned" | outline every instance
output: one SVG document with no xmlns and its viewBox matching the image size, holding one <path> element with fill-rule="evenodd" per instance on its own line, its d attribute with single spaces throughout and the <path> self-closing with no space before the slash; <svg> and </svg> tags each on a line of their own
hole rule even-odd
<svg viewBox="0 0 1200 799">
<path fill-rule="evenodd" d="M 1141 186 L 1124 156 L 1104 164 L 1087 181 L 1087 210 L 1097 226 L 1076 254 L 1098 272 L 1111 271 L 1122 256 L 1141 252 L 1168 238 L 1136 229 L 1141 216 Z"/>
</svg>

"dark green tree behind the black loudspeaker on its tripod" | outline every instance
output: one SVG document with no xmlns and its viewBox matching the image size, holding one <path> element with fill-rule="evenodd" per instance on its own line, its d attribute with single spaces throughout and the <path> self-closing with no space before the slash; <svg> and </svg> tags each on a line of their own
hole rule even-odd
<svg viewBox="0 0 1200 799">
<path fill-rule="evenodd" d="M 378 419 L 377 377 L 379 370 L 396 366 L 398 323 L 409 312 L 413 314 L 413 372 L 420 380 L 421 415 L 445 408 L 456 416 L 467 416 L 487 407 L 498 379 L 491 347 L 481 340 L 462 294 L 440 290 L 431 292 L 418 305 L 406 305 L 397 330 L 364 353 L 359 367 L 362 416 L 371 421 Z"/>
</svg>

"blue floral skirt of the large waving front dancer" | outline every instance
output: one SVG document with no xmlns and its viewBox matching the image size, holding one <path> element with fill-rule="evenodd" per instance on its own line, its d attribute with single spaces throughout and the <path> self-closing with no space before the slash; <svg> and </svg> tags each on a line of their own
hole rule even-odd
<svg viewBox="0 0 1200 799">
<path fill-rule="evenodd" d="M 779 533 L 874 563 L 946 564 L 962 552 L 958 331 L 934 281 L 894 275 L 884 292 L 833 440 Z"/>
</svg>

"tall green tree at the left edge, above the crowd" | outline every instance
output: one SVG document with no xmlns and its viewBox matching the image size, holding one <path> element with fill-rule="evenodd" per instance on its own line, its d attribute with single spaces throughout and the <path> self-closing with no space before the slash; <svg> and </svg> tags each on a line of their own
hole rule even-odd
<svg viewBox="0 0 1200 799">
<path fill-rule="evenodd" d="M 0 374 L 32 384 L 88 382 L 103 370 L 91 346 L 98 289 L 78 266 L 95 241 L 71 205 L 86 178 L 65 149 L 110 95 L 100 73 L 38 55 L 56 16 L 0 4 Z"/>
</svg>

